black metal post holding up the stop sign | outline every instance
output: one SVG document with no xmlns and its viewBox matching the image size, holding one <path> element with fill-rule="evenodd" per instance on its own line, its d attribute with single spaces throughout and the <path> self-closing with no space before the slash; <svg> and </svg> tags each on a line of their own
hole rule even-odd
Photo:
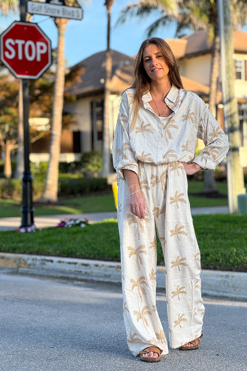
<svg viewBox="0 0 247 371">
<path fill-rule="evenodd" d="M 26 21 L 27 1 L 20 0 L 20 21 Z M 29 162 L 29 79 L 22 79 L 23 91 L 23 138 L 24 138 L 24 172 L 23 172 L 23 190 L 22 190 L 22 208 L 21 208 L 21 227 L 29 227 L 34 224 L 33 221 L 33 188 L 32 176 Z"/>
</svg>

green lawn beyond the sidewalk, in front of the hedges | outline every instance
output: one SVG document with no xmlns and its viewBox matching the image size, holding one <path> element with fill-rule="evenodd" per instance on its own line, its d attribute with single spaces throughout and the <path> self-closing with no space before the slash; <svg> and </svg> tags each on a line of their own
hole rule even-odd
<svg viewBox="0 0 247 371">
<path fill-rule="evenodd" d="M 227 195 L 227 184 L 217 182 L 217 188 L 221 194 Z M 192 196 L 190 193 L 200 193 L 203 189 L 203 181 L 189 181 L 188 193 L 191 207 L 222 206 L 227 205 L 226 198 L 208 198 Z M 20 216 L 20 202 L 15 200 L 0 199 L 0 217 Z M 113 194 L 104 196 L 76 197 L 67 200 L 60 200 L 57 205 L 34 207 L 35 215 L 54 214 L 80 214 L 94 213 L 100 211 L 116 211 Z"/>
</svg>

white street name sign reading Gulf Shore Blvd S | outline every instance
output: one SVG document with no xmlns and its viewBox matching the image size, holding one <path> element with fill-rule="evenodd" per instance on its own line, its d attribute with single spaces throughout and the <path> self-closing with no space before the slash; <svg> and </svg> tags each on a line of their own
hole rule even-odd
<svg viewBox="0 0 247 371">
<path fill-rule="evenodd" d="M 40 14 L 57 18 L 77 19 L 83 18 L 81 7 L 59 5 L 59 1 L 53 3 L 38 3 L 37 1 L 27 1 L 27 12 L 30 14 Z"/>
</svg>

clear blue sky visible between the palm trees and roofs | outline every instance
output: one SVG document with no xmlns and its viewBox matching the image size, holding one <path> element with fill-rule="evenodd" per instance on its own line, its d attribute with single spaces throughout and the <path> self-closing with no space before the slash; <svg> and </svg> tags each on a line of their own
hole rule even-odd
<svg viewBox="0 0 247 371">
<path fill-rule="evenodd" d="M 84 16 L 80 20 L 70 20 L 65 33 L 65 57 L 67 65 L 72 66 L 77 62 L 100 52 L 107 47 L 107 11 L 104 0 L 90 0 L 84 6 Z M 147 39 L 145 30 L 153 23 L 157 16 L 149 16 L 144 20 L 135 19 L 124 25 L 114 27 L 121 10 L 130 3 L 130 0 L 114 0 L 111 7 L 111 49 L 115 49 L 127 55 L 137 53 L 142 41 Z M 14 20 L 19 17 L 1 18 L 2 32 Z M 33 16 L 33 22 L 38 23 L 40 28 L 51 39 L 52 47 L 57 46 L 57 29 L 53 19 L 47 16 Z M 161 29 L 153 36 L 173 38 L 175 27 Z"/>
</svg>

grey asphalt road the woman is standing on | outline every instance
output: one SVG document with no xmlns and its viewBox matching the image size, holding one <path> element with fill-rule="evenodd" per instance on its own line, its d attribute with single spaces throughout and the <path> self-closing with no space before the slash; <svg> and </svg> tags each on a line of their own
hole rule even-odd
<svg viewBox="0 0 247 371">
<path fill-rule="evenodd" d="M 1 273 L 0 371 L 247 371 L 247 302 L 204 302 L 199 349 L 148 364 L 128 351 L 119 285 Z M 163 292 L 157 309 L 168 334 Z"/>
</svg>

